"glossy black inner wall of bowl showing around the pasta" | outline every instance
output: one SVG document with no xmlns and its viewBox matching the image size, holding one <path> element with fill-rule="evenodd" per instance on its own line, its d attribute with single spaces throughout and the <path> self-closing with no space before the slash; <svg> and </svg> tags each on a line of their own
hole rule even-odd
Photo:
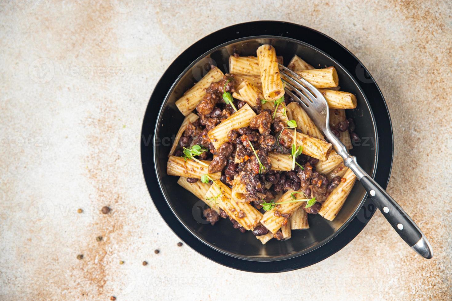
<svg viewBox="0 0 452 301">
<path fill-rule="evenodd" d="M 330 222 L 320 215 L 310 214 L 309 229 L 293 230 L 292 238 L 287 241 L 272 239 L 262 245 L 250 231 L 240 233 L 234 229 L 228 219 L 221 219 L 215 226 L 211 226 L 202 216 L 202 211 L 207 208 L 207 205 L 179 186 L 178 177 L 166 174 L 168 153 L 184 119 L 175 106 L 175 101 L 198 82 L 211 65 L 216 65 L 226 73 L 230 55 L 237 52 L 240 56 L 255 56 L 256 49 L 262 44 L 273 45 L 278 56 L 283 56 L 284 65 L 287 65 L 292 56 L 297 54 L 315 68 L 334 66 L 339 75 L 341 90 L 355 94 L 358 99 L 356 109 L 346 110 L 347 116 L 353 117 L 355 121 L 355 132 L 361 137 L 361 143 L 354 145 L 350 153 L 357 157 L 361 167 L 372 176 L 376 167 L 378 149 L 377 129 L 372 111 L 358 83 L 339 62 L 313 46 L 286 37 L 250 37 L 218 46 L 190 64 L 165 97 L 157 118 L 154 139 L 157 181 L 173 213 L 199 240 L 225 254 L 258 261 L 287 259 L 306 254 L 324 245 L 351 221 L 366 195 L 366 191 L 357 183 L 334 221 Z"/>
</svg>

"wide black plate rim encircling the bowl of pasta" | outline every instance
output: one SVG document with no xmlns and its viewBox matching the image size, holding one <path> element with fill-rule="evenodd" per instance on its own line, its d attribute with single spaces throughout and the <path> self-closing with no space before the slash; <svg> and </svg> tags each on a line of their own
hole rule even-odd
<svg viewBox="0 0 452 301">
<path fill-rule="evenodd" d="M 372 95 L 372 98 L 369 99 L 373 108 L 372 111 L 376 111 L 379 117 L 377 120 L 377 128 L 379 130 L 381 129 L 381 132 L 385 132 L 385 136 L 378 137 L 380 145 L 383 147 L 378 154 L 378 160 L 383 160 L 385 164 L 380 164 L 376 169 L 375 180 L 381 185 L 381 187 L 387 187 L 391 176 L 393 162 L 394 136 L 392 131 L 391 116 L 388 111 L 386 101 L 380 88 L 378 87 L 378 84 L 372 77 L 372 74 L 370 74 L 363 63 L 358 60 L 353 53 L 324 33 L 300 24 L 272 20 L 237 23 L 221 28 L 199 39 L 197 42 L 194 42 L 173 60 L 155 84 L 155 88 L 153 89 L 146 109 L 143 112 L 143 122 L 140 136 L 141 170 L 148 194 L 151 197 L 151 201 L 157 209 L 157 212 L 163 218 L 171 231 L 174 232 L 174 234 L 176 234 L 182 241 L 184 241 L 188 247 L 192 248 L 207 259 L 232 269 L 253 273 L 280 273 L 302 269 L 318 263 L 331 255 L 334 255 L 336 252 L 344 248 L 345 245 L 348 245 L 350 241 L 362 232 L 368 221 L 370 221 L 373 217 L 377 207 L 373 203 L 372 199 L 367 198 L 361 208 L 363 209 L 363 213 L 360 212 L 358 216 L 352 220 L 349 226 L 344 229 L 344 231 L 339 233 L 339 235 L 329 243 L 321 246 L 316 250 L 316 252 L 310 252 L 294 259 L 266 263 L 237 259 L 224 255 L 217 250 L 213 250 L 212 248 L 206 248 L 201 241 L 199 241 L 195 236 L 189 234 L 190 232 L 188 232 L 183 225 L 179 223 L 177 218 L 171 212 L 169 206 L 165 201 L 163 201 L 164 197 L 159 192 L 157 187 L 158 185 L 155 183 L 156 175 L 153 168 L 154 166 L 151 162 L 153 161 L 153 149 L 149 147 L 150 137 L 146 138 L 146 135 L 151 136 L 152 128 L 155 126 L 157 112 L 153 110 L 154 103 L 159 103 L 161 99 L 165 97 L 165 94 L 160 91 L 169 90 L 170 83 L 174 80 L 173 74 L 179 74 L 182 71 L 182 67 L 179 67 L 179 65 L 182 65 L 184 60 L 195 59 L 197 57 L 195 52 L 198 52 L 199 48 L 208 49 L 216 44 L 220 44 L 222 41 L 232 40 L 235 37 L 252 36 L 255 32 L 272 33 L 272 35 L 278 35 L 281 37 L 303 39 L 304 41 L 309 41 L 309 43 L 313 46 L 317 45 L 324 49 L 329 49 L 328 51 L 334 53 L 334 58 L 339 58 L 339 60 L 344 62 L 344 65 L 349 72 L 361 80 L 364 77 L 365 81 L 362 88 L 367 95 Z M 359 218 L 361 215 L 363 215 L 363 218 Z"/>
</svg>

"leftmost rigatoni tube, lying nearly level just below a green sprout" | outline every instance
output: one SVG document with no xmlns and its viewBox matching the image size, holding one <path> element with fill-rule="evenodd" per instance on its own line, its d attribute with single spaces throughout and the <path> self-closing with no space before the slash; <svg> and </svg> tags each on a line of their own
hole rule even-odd
<svg viewBox="0 0 452 301">
<path fill-rule="evenodd" d="M 221 172 L 208 173 L 210 161 L 199 161 L 207 164 L 207 166 L 192 159 L 185 161 L 183 157 L 170 156 L 166 166 L 166 173 L 170 176 L 184 176 L 195 179 L 201 179 L 201 176 L 206 174 L 214 180 L 221 177 Z"/>
</svg>

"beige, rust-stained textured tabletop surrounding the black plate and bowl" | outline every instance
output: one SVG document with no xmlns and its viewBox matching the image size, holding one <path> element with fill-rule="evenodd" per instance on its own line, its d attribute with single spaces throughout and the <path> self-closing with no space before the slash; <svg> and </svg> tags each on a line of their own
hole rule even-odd
<svg viewBox="0 0 452 301">
<path fill-rule="evenodd" d="M 355 2 L 0 1 L 0 300 L 451 299 L 452 7 Z M 380 213 L 337 254 L 279 275 L 176 245 L 142 180 L 142 114 L 186 47 L 258 19 L 320 30 L 370 69 L 394 127 L 388 190 L 434 259 Z"/>
</svg>

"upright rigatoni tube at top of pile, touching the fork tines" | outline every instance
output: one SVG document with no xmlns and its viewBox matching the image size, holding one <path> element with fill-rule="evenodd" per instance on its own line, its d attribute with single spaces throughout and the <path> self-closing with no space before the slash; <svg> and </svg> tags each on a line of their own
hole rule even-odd
<svg viewBox="0 0 452 301">
<path fill-rule="evenodd" d="M 284 95 L 284 85 L 278 69 L 278 59 L 275 48 L 262 45 L 257 49 L 262 92 L 266 100 L 277 100 Z"/>
</svg>

